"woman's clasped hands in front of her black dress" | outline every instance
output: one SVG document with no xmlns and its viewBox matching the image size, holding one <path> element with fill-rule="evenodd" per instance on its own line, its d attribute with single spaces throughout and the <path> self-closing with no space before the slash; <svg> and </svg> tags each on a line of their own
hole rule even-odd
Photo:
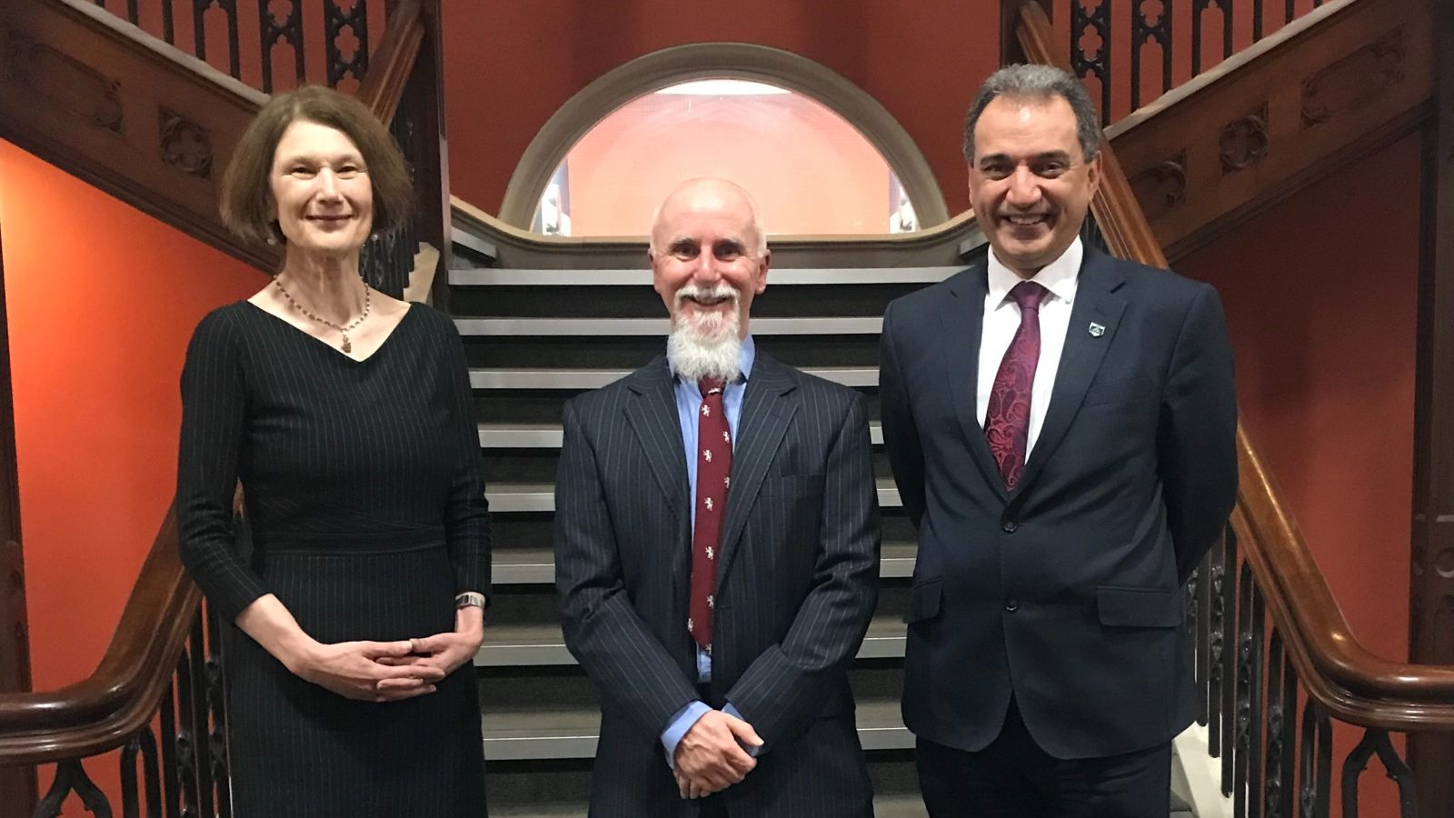
<svg viewBox="0 0 1454 818">
<path fill-rule="evenodd" d="M 401 702 L 435 691 L 445 677 L 427 664 L 394 664 L 413 651 L 409 642 L 314 642 L 285 662 L 305 681 L 362 702 Z"/>
</svg>

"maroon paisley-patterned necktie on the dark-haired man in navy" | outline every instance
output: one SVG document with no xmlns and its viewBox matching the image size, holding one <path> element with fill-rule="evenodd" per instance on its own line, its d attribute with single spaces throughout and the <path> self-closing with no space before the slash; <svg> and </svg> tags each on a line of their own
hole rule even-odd
<svg viewBox="0 0 1454 818">
<path fill-rule="evenodd" d="M 1040 362 L 1040 297 L 1044 293 L 1045 288 L 1034 281 L 1021 281 L 1009 291 L 1009 297 L 1019 304 L 1019 329 L 1000 361 L 984 412 L 984 440 L 1009 492 L 1019 483 L 1029 448 L 1029 392 Z"/>
</svg>

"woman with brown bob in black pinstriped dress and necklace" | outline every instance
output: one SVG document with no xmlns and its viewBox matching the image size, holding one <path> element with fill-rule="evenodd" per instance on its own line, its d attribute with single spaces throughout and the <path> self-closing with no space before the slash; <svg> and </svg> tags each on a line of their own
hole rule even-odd
<svg viewBox="0 0 1454 818">
<path fill-rule="evenodd" d="M 321 87 L 265 105 L 222 179 L 228 226 L 284 249 L 272 282 L 202 319 L 182 373 L 182 559 L 246 635 L 224 656 L 240 818 L 486 812 L 490 528 L 464 348 L 359 277 L 410 201 L 388 132 Z"/>
</svg>

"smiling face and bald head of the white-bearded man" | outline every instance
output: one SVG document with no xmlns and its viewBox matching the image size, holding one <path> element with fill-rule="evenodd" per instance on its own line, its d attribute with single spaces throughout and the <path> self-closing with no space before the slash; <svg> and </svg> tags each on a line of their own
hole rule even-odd
<svg viewBox="0 0 1454 818">
<path fill-rule="evenodd" d="M 752 300 L 768 287 L 771 252 L 740 188 L 715 179 L 678 188 L 662 204 L 648 256 L 673 327 L 688 323 L 710 336 L 736 323 L 746 338 Z"/>
</svg>

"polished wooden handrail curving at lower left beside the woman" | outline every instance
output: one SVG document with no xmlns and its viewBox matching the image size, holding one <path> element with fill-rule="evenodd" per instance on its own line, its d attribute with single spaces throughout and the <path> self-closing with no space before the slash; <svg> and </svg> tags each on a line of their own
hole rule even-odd
<svg viewBox="0 0 1454 818">
<path fill-rule="evenodd" d="M 58 690 L 0 694 L 0 764 L 95 755 L 148 723 L 201 600 L 182 568 L 169 509 L 96 671 Z"/>
</svg>

